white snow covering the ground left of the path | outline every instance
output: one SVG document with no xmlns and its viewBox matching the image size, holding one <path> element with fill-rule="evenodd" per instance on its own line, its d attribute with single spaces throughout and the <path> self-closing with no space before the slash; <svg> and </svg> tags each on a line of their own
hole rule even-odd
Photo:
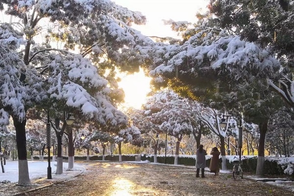
<svg viewBox="0 0 294 196">
<path fill-rule="evenodd" d="M 83 167 L 80 164 L 74 163 L 74 167 L 71 172 L 67 172 L 68 163 L 63 163 L 63 173 L 56 175 L 56 162 L 50 162 L 52 179 L 66 179 L 74 176 L 81 171 Z M 47 178 L 47 161 L 28 161 L 28 173 L 30 179 Z M 4 165 L 4 173 L 0 167 L 0 182 L 8 180 L 10 182 L 18 182 L 18 161 L 6 160 L 6 165 Z"/>
</svg>

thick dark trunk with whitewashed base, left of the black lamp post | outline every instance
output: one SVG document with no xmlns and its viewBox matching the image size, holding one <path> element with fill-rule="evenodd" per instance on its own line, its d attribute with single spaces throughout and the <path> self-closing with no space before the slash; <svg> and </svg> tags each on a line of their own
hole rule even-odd
<svg viewBox="0 0 294 196">
<path fill-rule="evenodd" d="M 28 165 L 26 159 L 26 136 L 25 136 L 25 124 L 26 120 L 19 122 L 18 117 L 13 117 L 13 124 L 16 131 L 16 146 L 19 159 L 19 179 L 18 185 L 30 185 L 30 179 L 28 174 Z"/>
</svg>

